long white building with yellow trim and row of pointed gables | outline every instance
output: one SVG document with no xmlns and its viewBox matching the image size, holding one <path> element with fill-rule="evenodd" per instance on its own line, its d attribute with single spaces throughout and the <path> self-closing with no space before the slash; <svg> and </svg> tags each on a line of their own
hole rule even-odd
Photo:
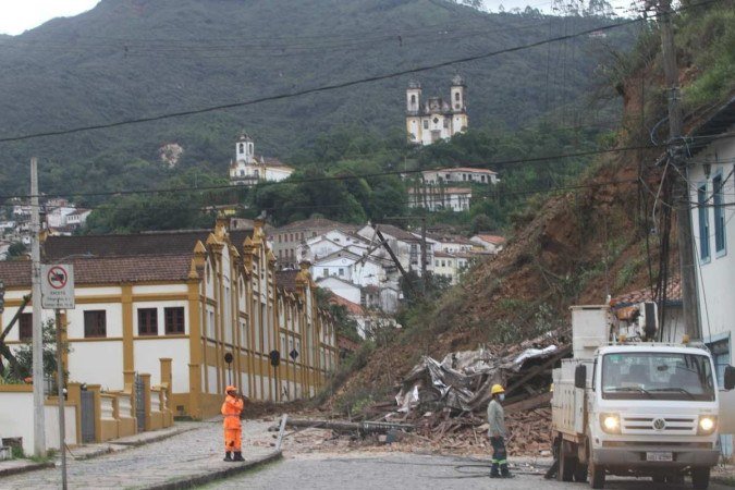
<svg viewBox="0 0 735 490">
<path fill-rule="evenodd" d="M 261 221 L 252 230 L 220 219 L 215 230 L 49 236 L 44 255 L 74 266 L 76 308 L 62 315 L 71 381 L 122 390 L 126 373 L 146 372 L 160 384 L 160 359 L 171 358 L 173 414 L 201 418 L 219 412 L 229 383 L 252 400 L 308 397 L 336 364 L 335 328 L 317 307 L 310 264 L 279 284 Z M 0 280 L 7 324 L 29 294 L 30 264 L 0 262 Z M 9 344 L 29 339 L 30 310 Z"/>
</svg>

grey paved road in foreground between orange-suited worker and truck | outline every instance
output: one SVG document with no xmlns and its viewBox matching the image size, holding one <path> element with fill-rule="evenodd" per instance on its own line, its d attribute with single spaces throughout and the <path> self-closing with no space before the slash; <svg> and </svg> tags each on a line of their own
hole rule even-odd
<svg viewBox="0 0 735 490">
<path fill-rule="evenodd" d="M 421 456 L 406 453 L 345 454 L 323 456 L 304 454 L 206 487 L 212 489 L 389 489 L 402 490 L 475 490 L 475 489 L 588 489 L 588 485 L 549 481 L 529 475 L 531 468 L 518 468 L 516 478 L 488 478 L 487 467 L 466 458 Z M 542 469 L 538 469 L 542 471 Z M 690 485 L 656 486 L 650 479 L 610 481 L 615 490 L 690 489 Z M 711 490 L 733 490 L 711 485 Z"/>
</svg>

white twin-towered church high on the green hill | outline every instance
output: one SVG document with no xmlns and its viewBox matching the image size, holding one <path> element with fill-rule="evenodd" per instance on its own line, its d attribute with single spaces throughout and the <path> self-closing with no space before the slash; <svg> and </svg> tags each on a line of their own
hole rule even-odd
<svg viewBox="0 0 735 490">
<path fill-rule="evenodd" d="M 450 100 L 429 97 L 421 103 L 421 85 L 411 82 L 406 89 L 408 142 L 426 146 L 467 131 L 465 88 L 464 79 L 456 75 L 452 78 Z"/>
</svg>

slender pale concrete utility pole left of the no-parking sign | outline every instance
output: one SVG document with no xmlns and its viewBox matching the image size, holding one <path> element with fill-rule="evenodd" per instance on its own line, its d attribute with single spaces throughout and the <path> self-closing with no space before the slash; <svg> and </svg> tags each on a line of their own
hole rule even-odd
<svg viewBox="0 0 735 490">
<path fill-rule="evenodd" d="M 40 292 L 40 208 L 38 207 L 38 160 L 30 159 L 30 283 L 33 301 L 33 444 L 36 457 L 46 457 L 44 417 L 44 328 Z"/>
</svg>

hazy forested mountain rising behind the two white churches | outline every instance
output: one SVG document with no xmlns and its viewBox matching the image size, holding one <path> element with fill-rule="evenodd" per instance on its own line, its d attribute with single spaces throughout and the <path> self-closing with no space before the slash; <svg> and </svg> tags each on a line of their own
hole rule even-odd
<svg viewBox="0 0 735 490">
<path fill-rule="evenodd" d="M 0 138 L 248 100 L 509 48 L 604 25 L 599 17 L 486 14 L 442 0 L 102 0 L 94 10 L 0 37 Z M 590 105 L 597 68 L 629 29 L 579 37 L 416 75 L 443 95 L 458 71 L 470 126 L 612 124 Z M 151 186 L 198 166 L 225 173 L 233 140 L 287 159 L 319 133 L 350 125 L 401 131 L 409 77 L 156 123 L 0 143 L 0 193 Z M 604 101 L 599 107 L 609 108 Z M 158 147 L 184 149 L 164 168 Z M 182 169 L 183 168 L 183 169 Z"/>
</svg>

